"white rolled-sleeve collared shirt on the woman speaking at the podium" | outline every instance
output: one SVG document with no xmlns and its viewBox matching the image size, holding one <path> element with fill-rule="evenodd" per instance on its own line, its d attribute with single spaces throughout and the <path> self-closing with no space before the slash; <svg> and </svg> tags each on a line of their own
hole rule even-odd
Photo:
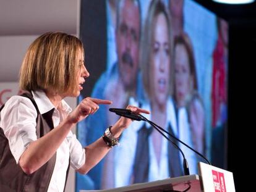
<svg viewBox="0 0 256 192">
<path fill-rule="evenodd" d="M 32 94 L 40 114 L 45 114 L 54 108 L 45 92 L 32 91 Z M 54 127 L 57 127 L 69 112 L 71 108 L 62 100 L 58 109 L 54 109 L 53 112 Z M 12 96 L 1 111 L 0 127 L 9 140 L 9 146 L 17 164 L 28 145 L 37 140 L 36 116 L 36 109 L 30 99 L 22 96 Z M 70 165 L 74 169 L 79 169 L 85 162 L 85 149 L 71 131 L 56 152 L 56 163 L 48 191 L 64 190 L 69 156 Z"/>
</svg>

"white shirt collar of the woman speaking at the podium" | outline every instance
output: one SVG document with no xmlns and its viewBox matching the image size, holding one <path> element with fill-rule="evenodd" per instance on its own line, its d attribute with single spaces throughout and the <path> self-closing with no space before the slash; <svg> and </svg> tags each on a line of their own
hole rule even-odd
<svg viewBox="0 0 256 192">
<path fill-rule="evenodd" d="M 46 112 L 55 108 L 53 103 L 49 100 L 48 96 L 46 96 L 45 91 L 36 90 L 32 91 L 32 94 L 33 98 L 35 99 L 36 105 L 38 106 L 40 114 L 45 114 Z M 59 104 L 58 110 L 66 112 L 67 114 L 72 111 L 71 107 L 64 100 L 62 100 Z"/>
</svg>

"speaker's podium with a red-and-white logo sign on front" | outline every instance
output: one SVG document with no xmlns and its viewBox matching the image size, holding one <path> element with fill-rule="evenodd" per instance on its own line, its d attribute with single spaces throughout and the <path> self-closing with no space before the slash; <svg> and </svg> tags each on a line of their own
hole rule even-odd
<svg viewBox="0 0 256 192">
<path fill-rule="evenodd" d="M 166 178 L 148 183 L 137 183 L 109 190 L 80 190 L 80 192 L 235 192 L 233 173 L 202 162 L 198 163 L 199 175 Z"/>
</svg>

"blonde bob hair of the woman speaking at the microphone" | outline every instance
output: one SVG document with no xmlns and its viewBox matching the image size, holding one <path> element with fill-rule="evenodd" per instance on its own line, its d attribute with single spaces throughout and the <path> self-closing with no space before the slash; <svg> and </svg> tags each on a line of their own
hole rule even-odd
<svg viewBox="0 0 256 192">
<path fill-rule="evenodd" d="M 74 93 L 82 42 L 72 35 L 48 32 L 29 46 L 20 68 L 20 89 Z"/>
</svg>

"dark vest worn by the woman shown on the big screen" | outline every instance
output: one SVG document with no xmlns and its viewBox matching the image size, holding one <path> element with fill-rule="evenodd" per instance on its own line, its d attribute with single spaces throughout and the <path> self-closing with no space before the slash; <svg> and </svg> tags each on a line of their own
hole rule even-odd
<svg viewBox="0 0 256 192">
<path fill-rule="evenodd" d="M 152 132 L 152 127 L 147 128 L 144 124 L 142 128 L 138 131 L 137 147 L 135 152 L 134 161 L 134 182 L 133 183 L 145 183 L 148 182 L 148 170 L 150 165 L 149 158 L 149 143 L 148 137 Z M 171 125 L 168 126 L 169 133 L 173 134 L 173 129 Z M 163 138 L 165 139 L 165 138 Z M 175 140 L 170 138 L 174 143 Z M 174 145 L 168 141 L 168 167 L 169 167 L 169 177 L 179 177 L 182 176 L 182 167 L 179 158 L 179 150 L 174 147 Z"/>
</svg>

